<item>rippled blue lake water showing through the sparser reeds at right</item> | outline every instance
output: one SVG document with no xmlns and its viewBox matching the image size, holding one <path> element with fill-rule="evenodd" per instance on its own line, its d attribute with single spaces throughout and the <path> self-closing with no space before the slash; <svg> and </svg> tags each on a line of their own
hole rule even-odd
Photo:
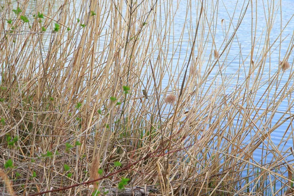
<svg viewBox="0 0 294 196">
<path fill-rule="evenodd" d="M 247 5 L 249 1 L 219 1 L 218 6 L 218 14 L 217 14 L 217 20 L 214 21 L 214 27 L 216 29 L 213 29 L 214 40 L 212 39 L 212 36 L 207 36 L 210 38 L 206 42 L 207 50 L 205 54 L 203 54 L 203 57 L 201 58 L 202 64 L 205 65 L 207 62 L 209 62 L 208 57 L 211 55 L 213 49 L 217 49 L 221 51 L 224 49 L 226 41 L 230 38 L 230 36 L 233 34 L 234 29 L 236 28 L 239 20 L 239 16 L 244 13 L 245 6 Z M 174 2 L 173 5 L 176 7 L 178 2 Z M 215 5 L 217 1 L 213 1 L 213 4 Z M 250 3 L 250 2 L 249 2 Z M 253 1 L 253 4 L 255 5 L 255 1 Z M 270 2 L 271 3 L 271 2 Z M 264 140 L 263 143 L 261 143 L 257 150 L 253 152 L 253 159 L 256 161 L 259 165 L 265 165 L 270 164 L 275 159 L 281 159 L 282 157 L 286 157 L 286 160 L 288 163 L 293 163 L 294 157 L 293 154 L 289 151 L 290 147 L 293 147 L 294 145 L 294 137 L 293 137 L 293 126 L 292 126 L 292 118 L 291 114 L 294 112 L 293 106 L 293 92 L 289 92 L 288 89 L 288 96 L 281 98 L 279 95 L 280 91 L 285 90 L 284 85 L 289 82 L 288 86 L 291 87 L 293 85 L 293 80 L 289 81 L 289 75 L 292 73 L 292 69 L 286 71 L 285 73 L 277 73 L 279 62 L 283 60 L 285 55 L 289 54 L 288 48 L 293 45 L 293 29 L 294 29 L 294 6 L 289 6 L 293 4 L 291 0 L 283 0 L 282 4 L 279 5 L 279 1 L 275 1 L 275 6 L 272 4 L 267 4 L 263 1 L 257 1 L 257 15 L 255 13 L 255 10 L 253 10 L 253 35 L 256 33 L 256 46 L 254 48 L 253 52 L 253 61 L 259 62 L 261 60 L 259 50 L 260 48 L 263 48 L 265 46 L 265 32 L 270 29 L 270 57 L 268 56 L 265 60 L 265 63 L 259 66 L 263 66 L 263 75 L 261 76 L 261 85 L 259 86 L 259 90 L 257 91 L 256 98 L 254 100 L 255 107 L 258 109 L 258 111 L 253 111 L 251 114 L 251 120 L 254 122 L 255 119 L 258 118 L 260 115 L 264 115 L 262 117 L 261 121 L 255 122 L 255 125 L 252 125 L 252 128 L 249 128 L 250 134 L 245 137 L 243 144 L 255 144 L 252 142 L 252 138 L 259 134 L 264 129 L 264 127 L 267 127 L 267 132 L 271 132 L 270 136 L 268 136 L 268 139 Z M 207 9 L 211 10 L 213 7 L 212 3 L 207 3 Z M 250 5 L 250 4 L 249 4 Z M 172 36 L 170 37 L 171 43 L 181 41 L 181 47 L 183 51 L 186 51 L 190 49 L 191 51 L 191 45 L 193 40 L 193 34 L 189 34 L 189 25 L 193 25 L 193 28 L 196 28 L 196 20 L 198 19 L 199 13 L 197 13 L 196 10 L 196 4 L 193 1 L 191 4 L 192 9 L 189 9 L 189 14 L 191 14 L 192 20 L 185 20 L 185 14 L 187 9 L 186 1 L 180 1 L 178 4 L 178 10 L 174 13 L 174 22 L 171 26 Z M 274 7 L 274 9 L 272 9 Z M 282 10 L 282 11 L 281 11 Z M 235 12 L 235 16 L 233 16 L 233 13 Z M 271 18 L 274 18 L 274 22 L 272 22 L 272 26 L 269 25 L 269 13 L 273 13 Z M 208 16 L 208 21 L 210 21 L 210 12 L 206 13 Z M 159 16 L 158 16 L 159 17 Z M 216 15 L 215 15 L 216 17 Z M 255 18 L 257 18 L 257 21 L 255 21 Z M 221 21 L 223 19 L 223 23 L 221 26 Z M 162 16 L 162 20 L 164 20 L 164 16 Z M 256 32 L 254 32 L 254 26 L 257 22 L 257 28 Z M 169 23 L 169 21 L 168 21 Z M 228 26 L 232 23 L 231 28 L 228 29 Z M 184 24 L 188 24 L 182 34 L 181 29 L 183 29 Z M 203 27 L 204 24 L 200 24 Z M 286 26 L 286 27 L 285 27 Z M 200 27 L 200 29 L 201 29 Z M 236 33 L 236 36 L 234 40 L 232 41 L 232 45 L 230 47 L 230 51 L 225 51 L 220 58 L 220 62 L 225 62 L 227 67 L 226 69 L 222 70 L 224 77 L 233 78 L 233 81 L 242 81 L 245 79 L 246 75 L 248 75 L 248 70 L 250 66 L 250 53 L 251 53 L 251 7 L 249 6 L 246 10 L 246 13 L 244 15 L 244 20 L 242 24 L 239 26 L 238 31 Z M 180 30 L 179 30 L 180 29 Z M 204 32 L 204 36 L 206 37 L 207 34 L 210 34 L 208 27 L 204 27 L 206 30 Z M 225 30 L 226 29 L 226 30 Z M 279 34 L 282 30 L 281 37 L 279 37 Z M 227 33 L 227 36 L 225 36 L 225 32 Z M 162 36 L 163 37 L 163 36 Z M 282 42 L 281 42 L 282 41 Z M 215 45 L 213 44 L 215 43 Z M 197 38 L 196 42 L 196 49 L 195 54 L 197 56 L 198 47 L 201 47 L 201 39 Z M 172 70 L 172 72 L 177 72 L 181 69 L 181 66 L 185 64 L 185 62 L 188 61 L 188 58 L 186 58 L 186 54 L 182 54 L 181 51 L 174 50 L 174 45 L 169 45 L 169 53 L 167 54 L 167 62 L 169 62 L 169 67 Z M 155 54 L 156 55 L 156 54 Z M 212 53 L 213 55 L 213 53 Z M 227 55 L 227 56 L 226 56 Z M 226 57 L 226 58 L 225 58 Z M 294 54 L 291 52 L 289 55 L 289 63 L 293 65 L 293 59 Z M 240 65 L 240 62 L 242 65 Z M 179 67 L 177 67 L 179 66 Z M 200 69 L 200 68 L 198 68 Z M 257 73 L 256 69 L 256 73 Z M 218 69 L 218 66 L 216 66 L 211 73 L 211 78 L 215 76 L 216 73 L 218 73 L 220 69 Z M 255 73 L 255 74 L 256 74 Z M 205 68 L 201 69 L 201 74 L 205 74 Z M 271 84 L 272 87 L 271 90 L 268 90 L 269 87 L 269 79 L 270 77 L 274 75 L 278 75 L 279 83 L 278 84 Z M 166 76 L 163 78 L 162 81 L 162 88 L 164 89 L 166 86 L 170 83 L 170 74 L 166 74 Z M 175 78 L 178 77 L 178 74 L 175 73 Z M 181 75 L 183 77 L 183 75 Z M 221 81 L 221 80 L 220 80 Z M 178 88 L 180 87 L 181 80 L 178 82 Z M 207 90 L 210 83 L 207 83 L 203 89 Z M 229 88 L 226 91 L 226 94 L 230 94 L 234 91 L 236 83 L 229 84 Z M 250 86 L 253 85 L 250 84 Z M 151 85 L 152 86 L 152 85 Z M 172 86 L 169 86 L 169 90 L 172 89 Z M 209 90 L 211 91 L 211 90 Z M 269 96 L 264 96 L 264 94 L 268 94 Z M 273 97 L 276 97 L 276 101 L 280 101 L 280 104 L 278 105 L 278 108 L 271 108 L 271 110 L 276 110 L 275 113 L 268 112 L 264 114 L 265 108 L 269 108 L 272 103 L 270 103 L 270 100 Z M 279 100 L 280 99 L 280 100 Z M 241 102 L 240 102 L 241 103 Z M 243 104 L 244 107 L 246 107 L 246 103 Z M 250 105 L 252 107 L 252 105 Z M 286 110 L 287 114 L 285 114 Z M 244 112 L 245 113 L 245 112 Z M 272 116 L 271 116 L 272 115 Z M 242 116 L 241 116 L 242 118 Z M 268 122 L 267 120 L 269 118 L 272 118 L 270 121 L 270 124 L 264 124 Z M 234 119 L 234 123 L 237 124 L 238 118 Z M 285 121 L 285 122 L 283 122 Z M 224 122 L 227 122 L 227 120 L 224 120 Z M 239 123 L 240 124 L 240 123 Z M 249 126 L 249 123 L 246 123 L 246 127 Z M 235 128 L 241 128 L 241 127 L 235 127 Z M 272 129 L 272 130 L 271 130 Z M 238 130 L 236 130 L 238 131 Z M 286 139 L 287 138 L 287 139 Z M 255 138 L 255 141 L 257 138 Z M 285 151 L 287 151 L 285 153 Z M 285 177 L 288 176 L 287 169 L 285 167 L 280 167 L 279 169 L 276 169 L 278 173 L 281 173 Z M 255 173 L 257 171 L 251 170 Z M 260 171 L 259 171 L 260 172 Z M 252 173 L 251 173 L 252 174 Z M 244 172 L 244 176 L 248 175 L 247 172 Z M 256 177 L 257 174 L 255 174 Z M 250 180 L 253 178 L 250 178 Z M 282 180 L 283 183 L 285 183 L 285 180 Z M 245 183 L 245 182 L 244 182 Z M 244 185 L 243 183 L 243 185 Z M 253 183 L 254 184 L 254 183 Z M 281 188 L 281 184 L 277 183 L 276 187 L 277 190 Z"/>
</svg>

